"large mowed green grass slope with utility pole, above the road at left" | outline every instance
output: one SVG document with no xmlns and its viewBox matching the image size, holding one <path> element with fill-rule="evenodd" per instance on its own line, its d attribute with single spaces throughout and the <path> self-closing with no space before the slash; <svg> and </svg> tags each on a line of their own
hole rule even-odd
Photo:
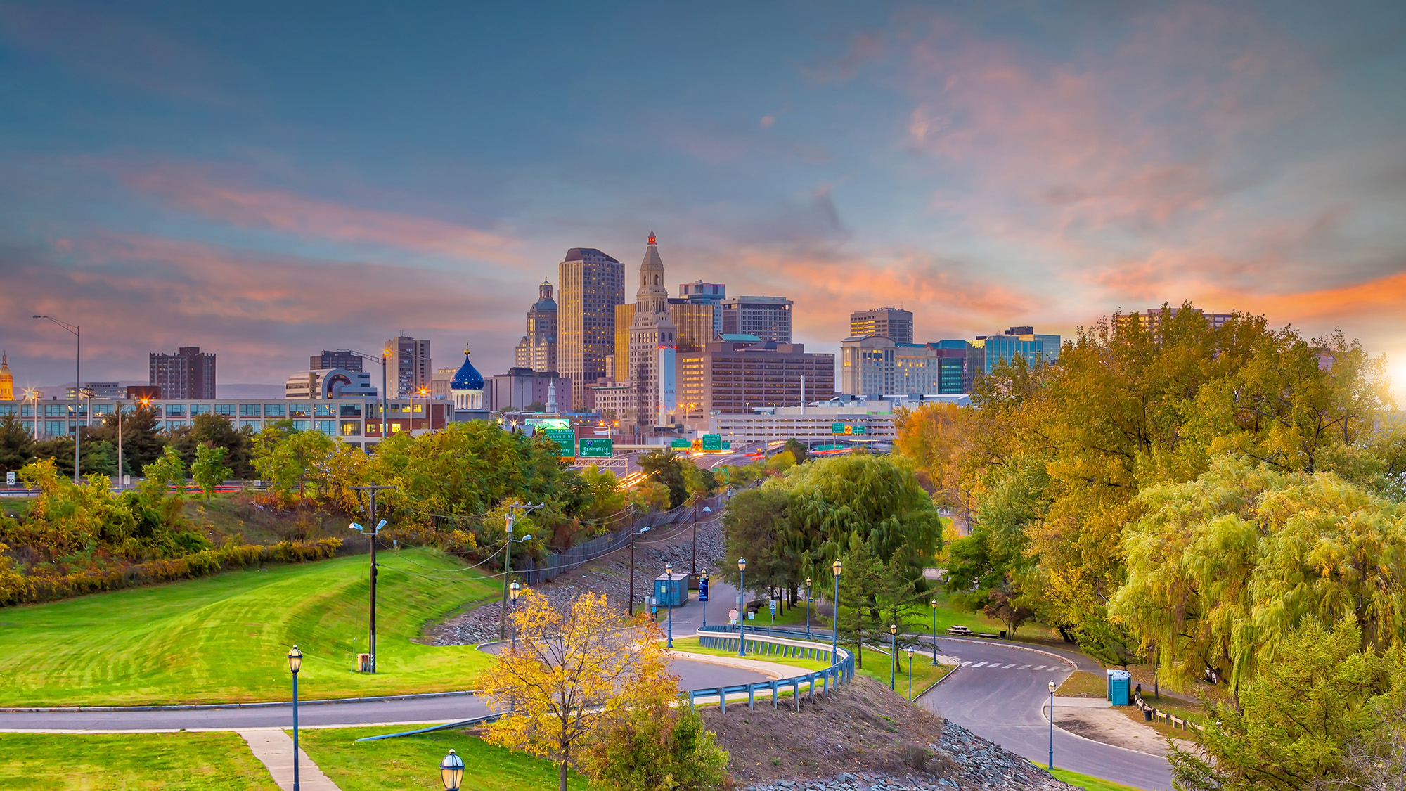
<svg viewBox="0 0 1406 791">
<path fill-rule="evenodd" d="M 374 676 L 352 670 L 367 650 L 363 555 L 0 609 L 0 705 L 283 701 L 294 643 L 304 700 L 472 688 L 491 656 L 412 640 L 496 580 L 429 549 L 377 560 Z"/>
</svg>

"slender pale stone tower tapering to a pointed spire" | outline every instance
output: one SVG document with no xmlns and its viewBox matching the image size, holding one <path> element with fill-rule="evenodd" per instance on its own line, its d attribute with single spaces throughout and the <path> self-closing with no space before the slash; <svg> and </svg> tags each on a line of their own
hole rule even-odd
<svg viewBox="0 0 1406 791">
<path fill-rule="evenodd" d="M 630 322 L 630 383 L 634 386 L 640 425 L 669 425 L 675 410 L 673 352 L 676 328 L 669 318 L 669 289 L 664 284 L 664 259 L 650 232 L 640 262 L 640 290 L 634 294 Z"/>
</svg>

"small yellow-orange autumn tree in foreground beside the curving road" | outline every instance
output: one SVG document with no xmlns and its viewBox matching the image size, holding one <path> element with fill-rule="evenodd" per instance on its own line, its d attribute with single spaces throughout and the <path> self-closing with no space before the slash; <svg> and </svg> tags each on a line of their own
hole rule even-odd
<svg viewBox="0 0 1406 791">
<path fill-rule="evenodd" d="M 551 759 L 567 791 L 567 767 L 582 759 L 600 732 L 676 680 L 666 674 L 659 628 L 648 616 L 627 618 L 606 597 L 583 594 L 561 611 L 523 591 L 512 615 L 517 649 L 499 654 L 484 695 L 502 719 L 488 740 Z"/>
</svg>

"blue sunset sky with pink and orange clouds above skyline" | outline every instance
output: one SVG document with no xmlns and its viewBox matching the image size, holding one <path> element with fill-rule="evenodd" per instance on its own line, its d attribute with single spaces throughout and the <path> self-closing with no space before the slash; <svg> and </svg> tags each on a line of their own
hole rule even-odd
<svg viewBox="0 0 1406 791">
<path fill-rule="evenodd" d="M 1399 1 L 0 0 L 0 346 L 501 373 L 568 248 L 630 283 L 652 228 L 807 350 L 1191 300 L 1341 328 L 1406 403 L 1403 42 Z"/>
</svg>

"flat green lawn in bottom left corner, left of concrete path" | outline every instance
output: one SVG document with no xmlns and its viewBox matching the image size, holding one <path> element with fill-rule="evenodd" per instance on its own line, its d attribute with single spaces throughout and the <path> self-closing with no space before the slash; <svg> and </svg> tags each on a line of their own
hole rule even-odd
<svg viewBox="0 0 1406 791">
<path fill-rule="evenodd" d="M 0 733 L 0 788 L 277 791 L 278 787 L 235 733 Z"/>
</svg>

